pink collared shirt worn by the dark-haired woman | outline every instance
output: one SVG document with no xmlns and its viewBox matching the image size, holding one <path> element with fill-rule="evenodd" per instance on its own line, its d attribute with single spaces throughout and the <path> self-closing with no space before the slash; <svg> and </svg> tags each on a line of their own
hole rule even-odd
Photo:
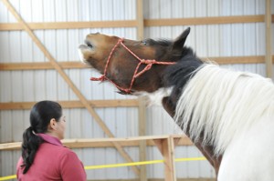
<svg viewBox="0 0 274 181">
<path fill-rule="evenodd" d="M 20 181 L 82 181 L 87 180 L 83 164 L 78 156 L 63 146 L 58 138 L 45 134 L 37 134 L 44 139 L 37 150 L 33 164 L 23 175 L 23 158 L 17 163 L 17 179 Z"/>
</svg>

